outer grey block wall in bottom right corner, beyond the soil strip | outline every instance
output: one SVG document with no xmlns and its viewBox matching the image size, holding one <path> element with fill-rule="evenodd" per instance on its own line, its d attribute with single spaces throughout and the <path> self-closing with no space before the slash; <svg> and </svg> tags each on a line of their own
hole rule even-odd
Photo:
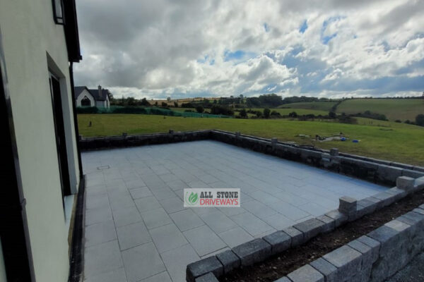
<svg viewBox="0 0 424 282">
<path fill-rule="evenodd" d="M 424 204 L 276 282 L 379 282 L 424 250 Z"/>
</svg>

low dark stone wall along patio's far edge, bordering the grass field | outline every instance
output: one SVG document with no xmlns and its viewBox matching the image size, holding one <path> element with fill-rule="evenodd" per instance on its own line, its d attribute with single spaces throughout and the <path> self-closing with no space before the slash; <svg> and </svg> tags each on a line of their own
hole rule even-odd
<svg viewBox="0 0 424 282">
<path fill-rule="evenodd" d="M 229 133 L 223 130 L 199 130 L 145 135 L 126 135 L 110 137 L 80 138 L 81 150 L 110 149 L 114 147 L 131 147 L 172 142 L 198 140 L 216 140 L 231 145 L 252 149 L 276 157 L 300 161 L 305 164 L 326 168 L 362 178 L 382 185 L 396 185 L 396 178 L 408 176 L 418 178 L 424 176 L 424 167 L 400 164 L 380 159 L 361 157 L 353 154 L 339 153 L 337 149 L 324 150 L 309 146 L 296 145 L 291 142 L 278 142 L 276 138 L 266 139 L 240 133 Z"/>
</svg>

